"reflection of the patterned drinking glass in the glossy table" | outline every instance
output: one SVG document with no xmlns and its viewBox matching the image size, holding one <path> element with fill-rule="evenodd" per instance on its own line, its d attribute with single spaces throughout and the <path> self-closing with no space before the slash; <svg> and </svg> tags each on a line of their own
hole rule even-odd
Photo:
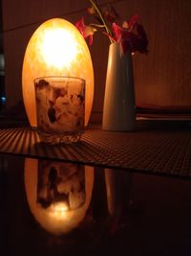
<svg viewBox="0 0 191 256">
<path fill-rule="evenodd" d="M 36 202 L 39 207 L 70 211 L 81 207 L 85 198 L 84 166 L 47 160 L 38 162 Z"/>
</svg>

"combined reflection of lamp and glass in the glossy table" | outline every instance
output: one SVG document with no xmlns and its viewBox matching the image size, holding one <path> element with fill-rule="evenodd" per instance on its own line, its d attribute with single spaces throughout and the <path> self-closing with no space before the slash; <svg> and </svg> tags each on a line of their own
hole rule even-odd
<svg viewBox="0 0 191 256">
<path fill-rule="evenodd" d="M 65 162 L 30 158 L 25 161 L 25 189 L 32 215 L 54 235 L 74 230 L 84 220 L 90 206 L 94 170 L 88 166 L 80 170 L 75 164 Z M 50 198 L 48 193 L 51 193 Z"/>
</svg>

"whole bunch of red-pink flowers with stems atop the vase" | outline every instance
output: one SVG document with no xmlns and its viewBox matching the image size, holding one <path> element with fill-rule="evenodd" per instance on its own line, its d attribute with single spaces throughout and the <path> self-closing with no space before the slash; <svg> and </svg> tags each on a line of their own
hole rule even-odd
<svg viewBox="0 0 191 256">
<path fill-rule="evenodd" d="M 122 25 L 117 25 L 116 20 L 119 15 L 114 7 L 107 6 L 101 10 L 96 3 L 96 0 L 90 0 L 92 6 L 88 8 L 88 12 L 96 18 L 98 23 L 86 25 L 82 16 L 75 24 L 75 27 L 84 36 L 89 37 L 89 44 L 93 43 L 93 35 L 97 29 L 103 29 L 103 33 L 108 35 L 110 42 L 120 43 L 122 53 L 130 51 L 132 54 L 139 52 L 147 54 L 148 39 L 141 24 L 138 23 L 138 14 L 134 14 L 128 21 L 123 21 Z"/>
</svg>

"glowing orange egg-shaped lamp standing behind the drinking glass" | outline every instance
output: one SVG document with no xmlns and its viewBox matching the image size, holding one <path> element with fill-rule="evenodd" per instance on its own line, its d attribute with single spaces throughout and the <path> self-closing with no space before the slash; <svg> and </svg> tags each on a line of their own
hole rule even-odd
<svg viewBox="0 0 191 256">
<path fill-rule="evenodd" d="M 72 23 L 62 18 L 45 21 L 33 33 L 23 61 L 22 92 L 32 127 L 36 127 L 33 80 L 39 77 L 78 77 L 86 81 L 85 126 L 94 98 L 94 69 L 89 48 Z"/>
</svg>

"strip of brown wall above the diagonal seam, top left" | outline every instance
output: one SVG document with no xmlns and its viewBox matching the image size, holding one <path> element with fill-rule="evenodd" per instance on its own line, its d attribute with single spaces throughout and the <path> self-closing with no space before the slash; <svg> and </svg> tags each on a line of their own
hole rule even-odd
<svg viewBox="0 0 191 256">
<path fill-rule="evenodd" d="M 2 0 L 4 10 L 4 30 L 42 22 L 48 18 L 62 16 L 87 9 L 88 0 Z M 108 2 L 100 0 L 101 5 Z"/>
</svg>

